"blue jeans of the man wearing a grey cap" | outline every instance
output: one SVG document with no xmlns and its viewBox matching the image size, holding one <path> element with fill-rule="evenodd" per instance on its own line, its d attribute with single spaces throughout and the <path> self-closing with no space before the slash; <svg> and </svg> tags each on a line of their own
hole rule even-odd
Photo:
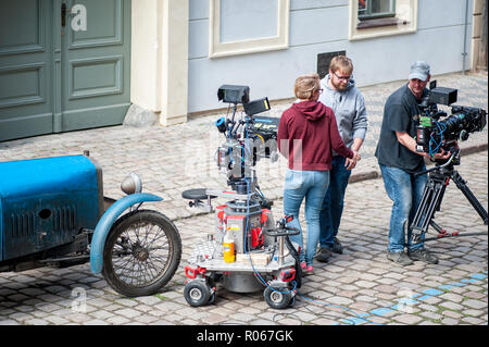
<svg viewBox="0 0 489 347">
<path fill-rule="evenodd" d="M 423 198 L 428 176 L 426 174 L 415 176 L 404 170 L 385 165 L 380 165 L 380 172 L 383 173 L 387 195 L 393 202 L 390 214 L 388 250 L 400 252 L 404 250 L 404 247 L 408 247 L 409 251 L 423 248 L 424 235 L 419 244 L 411 244 L 410 226 Z M 406 231 L 408 233 L 405 233 Z M 405 234 L 408 234 L 408 243 L 405 241 Z"/>
</svg>

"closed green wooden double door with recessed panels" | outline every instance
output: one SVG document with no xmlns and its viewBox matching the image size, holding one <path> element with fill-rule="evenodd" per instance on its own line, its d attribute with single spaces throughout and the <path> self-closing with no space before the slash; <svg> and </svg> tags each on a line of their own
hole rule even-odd
<svg viewBox="0 0 489 347">
<path fill-rule="evenodd" d="M 0 140 L 122 124 L 130 0 L 0 1 Z"/>
</svg>

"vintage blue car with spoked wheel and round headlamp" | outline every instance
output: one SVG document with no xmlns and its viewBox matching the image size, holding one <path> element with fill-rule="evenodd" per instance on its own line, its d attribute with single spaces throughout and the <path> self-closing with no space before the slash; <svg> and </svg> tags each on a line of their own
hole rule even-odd
<svg viewBox="0 0 489 347">
<path fill-rule="evenodd" d="M 0 162 L 0 272 L 90 261 L 122 295 L 156 293 L 178 268 L 181 239 L 164 214 L 140 209 L 162 200 L 141 187 L 131 173 L 125 197 L 104 197 L 88 152 Z"/>
</svg>

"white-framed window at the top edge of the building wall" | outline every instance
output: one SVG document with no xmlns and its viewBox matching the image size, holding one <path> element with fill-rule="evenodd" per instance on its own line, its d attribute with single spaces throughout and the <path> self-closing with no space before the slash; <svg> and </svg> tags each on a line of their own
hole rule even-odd
<svg viewBox="0 0 489 347">
<path fill-rule="evenodd" d="M 349 39 L 416 32 L 417 0 L 349 0 Z"/>
</svg>

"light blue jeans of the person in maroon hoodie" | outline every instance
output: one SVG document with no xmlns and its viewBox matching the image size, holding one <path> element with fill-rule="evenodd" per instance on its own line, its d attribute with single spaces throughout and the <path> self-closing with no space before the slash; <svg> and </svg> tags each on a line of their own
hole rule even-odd
<svg viewBox="0 0 489 347">
<path fill-rule="evenodd" d="M 288 223 L 301 231 L 290 239 L 301 246 L 300 260 L 312 265 L 319 239 L 319 212 L 324 196 L 329 184 L 329 171 L 297 171 L 287 170 L 284 187 L 284 213 L 293 215 Z M 308 247 L 304 252 L 302 228 L 299 222 L 299 210 L 305 198 L 305 223 L 308 225 Z"/>
</svg>

